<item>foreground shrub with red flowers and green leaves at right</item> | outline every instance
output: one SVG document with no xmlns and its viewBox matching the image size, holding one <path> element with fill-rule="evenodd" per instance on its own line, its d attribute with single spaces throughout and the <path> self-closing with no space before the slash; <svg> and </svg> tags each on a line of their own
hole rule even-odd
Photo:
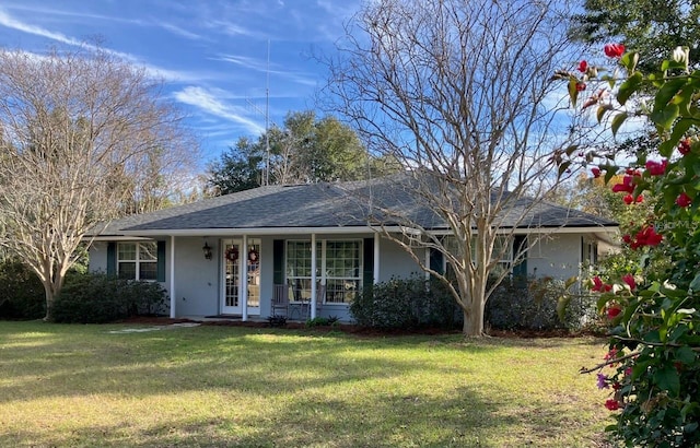
<svg viewBox="0 0 700 448">
<path fill-rule="evenodd" d="M 602 405 L 617 413 L 617 423 L 608 429 L 627 446 L 700 446 L 700 71 L 689 69 L 687 48 L 654 73 L 637 70 L 639 56 L 621 45 L 604 51 L 612 58 L 611 74 L 590 61 L 579 64 L 582 75 L 558 73 L 572 103 L 580 84 L 600 83 L 583 107 L 597 105 L 598 120 L 610 117 L 614 133 L 628 117 L 645 116 L 661 143 L 639 151 L 631 166 L 608 162 L 591 169 L 594 177 L 604 172 L 606 181 L 625 173 L 611 189 L 626 194 L 628 207 L 643 192 L 655 202 L 622 237 L 639 256 L 634 274 L 591 281 L 610 340 L 603 362 L 584 372 L 597 373 L 598 388 L 610 390 Z M 586 161 L 603 156 L 591 152 Z"/>
</svg>

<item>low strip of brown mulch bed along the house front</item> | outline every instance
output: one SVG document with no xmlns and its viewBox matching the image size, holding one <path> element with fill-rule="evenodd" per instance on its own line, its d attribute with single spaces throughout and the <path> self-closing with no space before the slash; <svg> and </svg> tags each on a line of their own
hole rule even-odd
<svg viewBox="0 0 700 448">
<path fill-rule="evenodd" d="M 140 323 L 140 325 L 152 325 L 152 326 L 167 326 L 172 323 L 186 323 L 186 322 L 195 322 L 195 320 L 190 319 L 172 319 L 168 317 L 150 317 L 150 316 L 136 316 L 126 320 L 119 321 L 120 323 Z M 242 321 L 242 320 L 233 320 L 233 319 L 221 319 L 221 320 L 208 320 L 200 322 L 202 326 L 217 326 L 217 327 L 248 327 L 248 328 L 270 328 L 270 323 L 268 322 L 258 322 L 258 321 Z M 299 330 L 306 329 L 308 331 L 341 331 L 343 333 L 355 334 L 359 337 L 387 337 L 387 335 L 411 335 L 411 334 L 427 334 L 427 335 L 439 335 L 439 334 L 459 334 L 459 330 L 444 330 L 441 328 L 419 328 L 419 329 L 377 329 L 377 328 L 369 328 L 361 327 L 350 323 L 337 323 L 335 326 L 317 326 L 307 328 L 304 322 L 287 322 L 283 328 L 290 330 Z M 571 332 L 568 330 L 546 330 L 546 331 L 537 331 L 537 330 L 494 330 L 490 329 L 488 331 L 488 335 L 493 338 L 509 338 L 509 339 L 527 339 L 527 338 L 580 338 L 580 337 L 588 337 L 588 335 L 599 335 L 593 334 L 591 332 Z"/>
</svg>

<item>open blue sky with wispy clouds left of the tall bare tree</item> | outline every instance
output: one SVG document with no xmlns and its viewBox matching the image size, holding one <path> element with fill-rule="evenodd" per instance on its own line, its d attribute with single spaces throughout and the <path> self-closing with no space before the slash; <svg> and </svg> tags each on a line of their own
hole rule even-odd
<svg viewBox="0 0 700 448">
<path fill-rule="evenodd" d="M 159 73 L 188 115 L 205 160 L 270 121 L 315 109 L 329 54 L 359 0 L 3 0 L 0 44 L 44 52 L 98 37 Z M 268 69 L 269 42 L 269 69 Z"/>
</svg>

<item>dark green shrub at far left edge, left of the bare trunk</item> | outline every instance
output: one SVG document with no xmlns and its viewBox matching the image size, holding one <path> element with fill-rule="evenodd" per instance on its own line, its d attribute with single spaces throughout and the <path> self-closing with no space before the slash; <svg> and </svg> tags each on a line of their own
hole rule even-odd
<svg viewBox="0 0 700 448">
<path fill-rule="evenodd" d="M 40 319 L 46 294 L 32 270 L 13 259 L 0 262 L 0 319 Z"/>
</svg>

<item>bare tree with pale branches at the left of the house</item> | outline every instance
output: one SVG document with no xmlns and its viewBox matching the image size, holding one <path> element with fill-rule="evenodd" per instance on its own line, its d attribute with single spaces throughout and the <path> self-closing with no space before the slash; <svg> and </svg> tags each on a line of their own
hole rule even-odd
<svg viewBox="0 0 700 448">
<path fill-rule="evenodd" d="M 47 319 L 85 233 L 196 152 L 161 85 L 93 47 L 0 49 L 0 246 L 42 280 Z"/>
</svg>

